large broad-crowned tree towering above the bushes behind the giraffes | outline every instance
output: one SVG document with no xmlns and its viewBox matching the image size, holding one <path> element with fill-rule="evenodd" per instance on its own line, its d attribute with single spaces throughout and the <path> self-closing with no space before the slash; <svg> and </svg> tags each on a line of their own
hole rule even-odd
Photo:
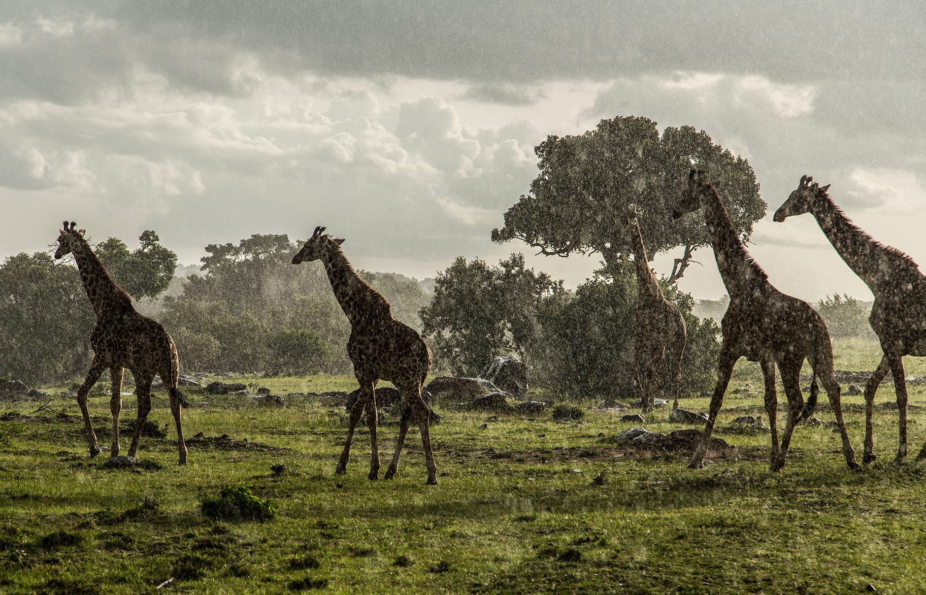
<svg viewBox="0 0 926 595">
<path fill-rule="evenodd" d="M 695 248 L 707 245 L 700 217 L 672 221 L 672 208 L 692 167 L 708 172 L 733 226 L 744 241 L 765 215 L 756 174 L 742 157 L 711 142 L 704 130 L 667 128 L 635 116 L 603 119 L 578 136 L 548 136 L 534 152 L 540 175 L 531 191 L 507 210 L 494 242 L 518 239 L 542 254 L 599 253 L 610 270 L 627 263 L 632 246 L 621 223 L 636 205 L 647 254 L 684 246 L 670 281 L 682 277 Z"/>
</svg>

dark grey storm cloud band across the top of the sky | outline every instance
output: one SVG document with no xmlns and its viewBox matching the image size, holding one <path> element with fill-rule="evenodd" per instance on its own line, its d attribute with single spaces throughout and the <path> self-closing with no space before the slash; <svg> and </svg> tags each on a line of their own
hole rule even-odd
<svg viewBox="0 0 926 595">
<path fill-rule="evenodd" d="M 284 75 L 471 81 L 471 93 L 507 105 L 524 98 L 500 83 L 685 69 L 904 81 L 926 63 L 915 3 L 14 2 L 6 15 L 21 41 L 0 49 L 0 93 L 62 104 L 139 65 L 181 88 L 233 93 L 243 54 Z M 39 19 L 73 31 L 56 36 Z"/>
</svg>

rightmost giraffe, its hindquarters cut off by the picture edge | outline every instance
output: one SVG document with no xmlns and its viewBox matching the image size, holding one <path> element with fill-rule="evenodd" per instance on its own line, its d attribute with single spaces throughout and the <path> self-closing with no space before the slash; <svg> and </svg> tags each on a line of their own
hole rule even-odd
<svg viewBox="0 0 926 595">
<path fill-rule="evenodd" d="M 874 394 L 890 370 L 894 376 L 900 414 L 895 457 L 895 463 L 900 463 L 907 456 L 907 381 L 903 356 L 926 355 L 926 278 L 907 254 L 876 242 L 858 229 L 832 202 L 827 193 L 829 189 L 829 184 L 820 187 L 810 176 L 802 176 L 797 189 L 775 211 L 774 219 L 782 222 L 795 215 L 813 215 L 845 264 L 865 281 L 874 294 L 869 322 L 881 342 L 883 355 L 865 385 L 865 449 L 862 462 L 870 463 L 877 458 L 871 423 Z M 917 461 L 924 458 L 926 445 L 917 455 Z"/>
</svg>

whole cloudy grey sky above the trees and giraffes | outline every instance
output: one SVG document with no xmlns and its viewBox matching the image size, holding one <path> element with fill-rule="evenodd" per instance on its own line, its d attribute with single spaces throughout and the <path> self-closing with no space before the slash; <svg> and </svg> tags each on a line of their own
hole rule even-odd
<svg viewBox="0 0 926 595">
<path fill-rule="evenodd" d="M 596 254 L 491 231 L 548 134 L 633 115 L 748 159 L 769 205 L 748 249 L 776 287 L 870 300 L 813 217 L 771 216 L 809 174 L 926 262 L 924 64 L 916 2 L 0 0 L 0 259 L 64 219 L 130 248 L 154 229 L 181 265 L 322 225 L 355 267 L 522 252 L 575 287 Z M 694 260 L 680 287 L 719 299 L 710 248 Z"/>
</svg>

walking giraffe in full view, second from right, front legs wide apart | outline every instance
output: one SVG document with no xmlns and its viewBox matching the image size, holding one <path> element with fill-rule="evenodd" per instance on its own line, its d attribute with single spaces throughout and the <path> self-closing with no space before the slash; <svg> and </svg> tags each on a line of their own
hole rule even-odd
<svg viewBox="0 0 926 595">
<path fill-rule="evenodd" d="M 710 400 L 707 427 L 689 466 L 699 469 L 704 465 L 710 433 L 717 421 L 733 365 L 740 356 L 745 355 L 749 361 L 760 363 L 765 377 L 765 407 L 771 429 L 770 469 L 778 471 L 784 466 L 795 424 L 813 413 L 817 404 L 817 377 L 820 377 L 826 389 L 839 424 L 846 465 L 857 469 L 859 465 L 855 451 L 845 429 L 839 383 L 832 373 L 830 333 L 823 319 L 807 302 L 785 295 L 771 285 L 765 271 L 746 252 L 743 242 L 733 229 L 727 210 L 720 202 L 720 196 L 707 183 L 704 172 L 693 169 L 688 176 L 688 186 L 682 192 L 682 200 L 675 207 L 672 217 L 678 219 L 699 209 L 704 212 L 720 277 L 730 294 L 730 305 L 720 322 L 723 341 L 718 358 L 717 386 Z M 799 384 L 805 358 L 813 369 L 813 382 L 806 406 Z M 781 447 L 776 422 L 776 365 L 781 370 L 782 384 L 788 398 L 788 418 Z"/>
</svg>

